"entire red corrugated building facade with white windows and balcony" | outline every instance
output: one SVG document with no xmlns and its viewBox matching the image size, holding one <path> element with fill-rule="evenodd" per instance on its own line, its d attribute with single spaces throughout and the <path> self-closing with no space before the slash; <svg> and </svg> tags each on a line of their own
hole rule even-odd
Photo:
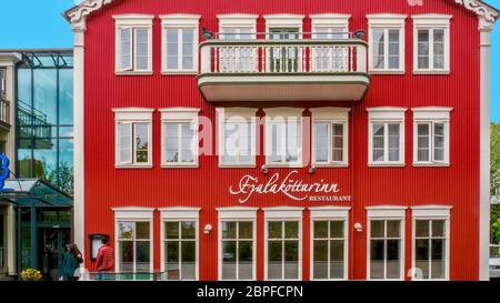
<svg viewBox="0 0 500 303">
<path fill-rule="evenodd" d="M 166 280 L 486 279 L 493 8 L 93 0 L 67 16 L 90 271 L 103 234 L 116 272 Z"/>
</svg>

